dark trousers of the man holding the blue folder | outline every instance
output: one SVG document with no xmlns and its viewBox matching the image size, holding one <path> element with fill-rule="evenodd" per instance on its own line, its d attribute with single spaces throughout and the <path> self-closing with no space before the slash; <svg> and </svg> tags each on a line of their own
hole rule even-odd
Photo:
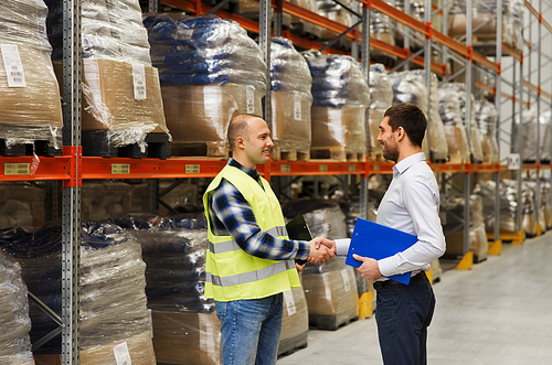
<svg viewBox="0 0 552 365">
<path fill-rule="evenodd" d="M 424 272 L 410 285 L 385 285 L 378 290 L 375 321 L 385 365 L 427 364 L 427 326 L 435 294 Z M 414 278 L 413 278 L 414 279 Z"/>
</svg>

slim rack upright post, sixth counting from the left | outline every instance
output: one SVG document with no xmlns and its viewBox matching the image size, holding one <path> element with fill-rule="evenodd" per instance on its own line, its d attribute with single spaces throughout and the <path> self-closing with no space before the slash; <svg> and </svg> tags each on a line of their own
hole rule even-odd
<svg viewBox="0 0 552 365">
<path fill-rule="evenodd" d="M 497 0 L 497 54 L 495 61 L 498 65 L 498 73 L 495 76 L 495 108 L 497 109 L 496 139 L 498 144 L 498 162 L 500 163 L 500 109 L 502 106 L 502 0 Z M 495 241 L 500 237 L 500 171 L 493 172 L 495 180 Z"/>
</svg>

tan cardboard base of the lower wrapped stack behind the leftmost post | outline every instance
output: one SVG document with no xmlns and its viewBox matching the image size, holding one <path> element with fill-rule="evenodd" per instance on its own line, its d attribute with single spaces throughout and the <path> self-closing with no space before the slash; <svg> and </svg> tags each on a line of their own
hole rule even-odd
<svg viewBox="0 0 552 365">
<path fill-rule="evenodd" d="M 156 365 L 156 355 L 151 345 L 151 332 L 144 332 L 129 339 L 81 351 L 81 365 L 117 365 L 114 347 L 127 344 L 132 365 Z M 34 354 L 36 365 L 62 365 L 60 354 Z"/>
</svg>

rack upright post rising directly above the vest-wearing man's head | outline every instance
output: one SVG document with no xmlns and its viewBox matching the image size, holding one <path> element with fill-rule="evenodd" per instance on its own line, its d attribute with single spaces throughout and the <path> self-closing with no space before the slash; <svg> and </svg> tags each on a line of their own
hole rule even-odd
<svg viewBox="0 0 552 365">
<path fill-rule="evenodd" d="M 270 106 L 270 9 L 272 1 L 261 0 L 258 9 L 258 45 L 263 51 L 266 63 L 267 87 L 264 100 L 264 118 L 268 128 L 272 128 Z"/>
</svg>

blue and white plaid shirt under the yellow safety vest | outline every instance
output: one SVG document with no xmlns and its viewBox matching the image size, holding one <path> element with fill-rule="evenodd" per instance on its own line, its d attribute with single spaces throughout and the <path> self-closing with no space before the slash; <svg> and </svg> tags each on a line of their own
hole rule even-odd
<svg viewBox="0 0 552 365">
<path fill-rule="evenodd" d="M 232 158 L 229 164 L 242 170 L 261 184 L 261 175 L 256 170 L 251 170 Z M 237 245 L 248 255 L 270 260 L 308 257 L 310 246 L 307 241 L 279 239 L 261 230 L 250 203 L 225 179 L 209 196 L 209 213 L 213 233 L 216 236 L 234 237 Z"/>
</svg>

